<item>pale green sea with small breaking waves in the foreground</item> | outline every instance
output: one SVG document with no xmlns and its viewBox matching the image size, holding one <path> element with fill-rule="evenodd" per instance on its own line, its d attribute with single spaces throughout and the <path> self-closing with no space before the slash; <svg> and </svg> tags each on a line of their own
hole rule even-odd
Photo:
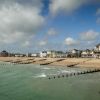
<svg viewBox="0 0 100 100">
<path fill-rule="evenodd" d="M 0 100 L 100 100 L 100 73 L 48 79 L 81 69 L 0 62 Z"/>
</svg>

